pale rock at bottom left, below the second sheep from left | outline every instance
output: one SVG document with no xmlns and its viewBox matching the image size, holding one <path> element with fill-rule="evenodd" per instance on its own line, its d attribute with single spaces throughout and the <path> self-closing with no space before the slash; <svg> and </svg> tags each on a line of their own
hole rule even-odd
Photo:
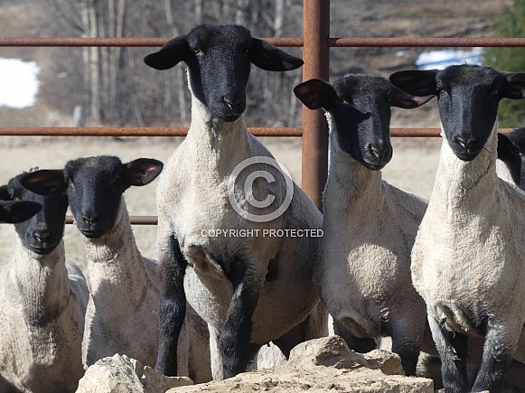
<svg viewBox="0 0 525 393">
<path fill-rule="evenodd" d="M 165 377 L 138 360 L 116 354 L 89 367 L 77 393 L 160 393 L 192 384 L 188 377 Z"/>
</svg>

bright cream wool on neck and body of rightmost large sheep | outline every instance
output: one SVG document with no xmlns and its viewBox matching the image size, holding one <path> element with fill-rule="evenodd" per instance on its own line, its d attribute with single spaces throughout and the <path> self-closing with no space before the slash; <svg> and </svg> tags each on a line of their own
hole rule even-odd
<svg viewBox="0 0 525 393">
<path fill-rule="evenodd" d="M 465 313 L 490 313 L 498 342 L 525 361 L 525 193 L 496 174 L 496 131 L 471 162 L 443 138 L 436 182 L 412 250 L 412 279 L 429 317 L 477 336 Z M 442 133 L 443 134 L 443 133 Z"/>
</svg>

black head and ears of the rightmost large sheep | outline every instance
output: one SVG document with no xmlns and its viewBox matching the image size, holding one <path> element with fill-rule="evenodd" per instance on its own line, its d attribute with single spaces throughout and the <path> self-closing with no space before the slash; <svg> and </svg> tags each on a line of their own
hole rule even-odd
<svg viewBox="0 0 525 393">
<path fill-rule="evenodd" d="M 483 149 L 496 122 L 502 98 L 522 99 L 525 73 L 510 73 L 476 65 L 445 70 L 407 70 L 390 81 L 416 96 L 437 97 L 446 140 L 462 161 L 472 161 Z"/>
</svg>

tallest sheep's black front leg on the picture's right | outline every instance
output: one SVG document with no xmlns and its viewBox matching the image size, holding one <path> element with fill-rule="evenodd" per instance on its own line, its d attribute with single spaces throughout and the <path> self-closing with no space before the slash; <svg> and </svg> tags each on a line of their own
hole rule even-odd
<svg viewBox="0 0 525 393">
<path fill-rule="evenodd" d="M 244 372 L 250 360 L 251 318 L 262 283 L 256 281 L 257 274 L 248 271 L 248 266 L 247 261 L 238 261 L 232 265 L 237 270 L 236 274 L 230 275 L 233 296 L 219 339 L 224 379 Z"/>
</svg>

